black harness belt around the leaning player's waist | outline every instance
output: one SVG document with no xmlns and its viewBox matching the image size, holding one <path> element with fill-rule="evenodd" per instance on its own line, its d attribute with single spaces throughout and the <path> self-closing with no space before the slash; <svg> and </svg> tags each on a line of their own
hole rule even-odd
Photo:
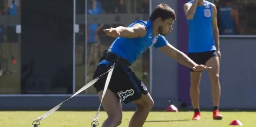
<svg viewBox="0 0 256 127">
<path fill-rule="evenodd" d="M 106 60 L 112 64 L 115 63 L 115 66 L 126 66 L 126 67 L 131 66 L 131 63 L 128 60 L 121 58 L 120 56 L 116 55 L 114 52 L 108 52 L 108 50 L 105 50 L 102 53 L 102 56 L 99 59 L 99 61 L 101 62 L 102 60 Z"/>
</svg>

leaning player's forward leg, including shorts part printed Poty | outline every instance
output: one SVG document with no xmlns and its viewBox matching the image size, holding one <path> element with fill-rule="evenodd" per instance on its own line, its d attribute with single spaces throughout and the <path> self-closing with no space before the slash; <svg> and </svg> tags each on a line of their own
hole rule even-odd
<svg viewBox="0 0 256 127">
<path fill-rule="evenodd" d="M 129 127 L 142 127 L 151 111 L 154 101 L 148 93 L 144 83 L 131 71 L 130 68 L 115 68 L 121 84 L 113 85 L 112 89 L 119 98 L 128 104 L 133 102 L 137 105 L 134 115 L 131 117 Z"/>
</svg>

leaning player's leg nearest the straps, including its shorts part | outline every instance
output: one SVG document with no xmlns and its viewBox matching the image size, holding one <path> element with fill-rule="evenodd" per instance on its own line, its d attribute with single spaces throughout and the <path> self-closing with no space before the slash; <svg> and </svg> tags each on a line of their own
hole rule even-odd
<svg viewBox="0 0 256 127">
<path fill-rule="evenodd" d="M 102 75 L 103 73 L 107 72 L 110 68 L 109 65 L 99 65 L 97 66 L 94 74 L 93 79 Z M 116 69 L 116 68 L 115 68 Z M 102 124 L 102 127 L 117 127 L 121 124 L 122 120 L 122 108 L 121 102 L 112 88 L 115 88 L 116 84 L 120 84 L 120 81 L 117 78 L 118 73 L 115 71 L 112 73 L 111 80 L 108 84 L 108 89 L 105 93 L 105 96 L 102 100 L 102 106 L 104 107 L 106 113 L 108 114 L 108 118 Z M 105 87 L 105 81 L 107 78 L 107 74 L 102 76 L 95 84 L 93 85 L 96 91 L 98 92 L 98 96 L 100 100 L 102 99 L 103 90 Z"/>
</svg>

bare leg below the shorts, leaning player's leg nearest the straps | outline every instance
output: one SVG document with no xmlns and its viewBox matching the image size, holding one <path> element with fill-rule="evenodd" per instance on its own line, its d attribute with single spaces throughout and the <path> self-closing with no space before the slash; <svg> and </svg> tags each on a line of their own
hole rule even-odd
<svg viewBox="0 0 256 127">
<path fill-rule="evenodd" d="M 98 93 L 100 100 L 102 99 L 103 90 Z M 117 127 L 122 122 L 121 101 L 114 92 L 107 89 L 102 101 L 108 118 L 103 122 L 102 127 Z"/>
</svg>

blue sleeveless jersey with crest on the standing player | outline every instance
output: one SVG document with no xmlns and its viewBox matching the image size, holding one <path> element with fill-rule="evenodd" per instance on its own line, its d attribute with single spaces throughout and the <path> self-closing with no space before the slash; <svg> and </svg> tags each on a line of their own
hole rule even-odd
<svg viewBox="0 0 256 127">
<path fill-rule="evenodd" d="M 192 4 L 194 0 L 189 3 Z M 188 20 L 189 44 L 188 52 L 208 52 L 216 50 L 213 39 L 212 4 L 203 2 L 203 6 L 197 6 L 192 20 Z"/>
</svg>

